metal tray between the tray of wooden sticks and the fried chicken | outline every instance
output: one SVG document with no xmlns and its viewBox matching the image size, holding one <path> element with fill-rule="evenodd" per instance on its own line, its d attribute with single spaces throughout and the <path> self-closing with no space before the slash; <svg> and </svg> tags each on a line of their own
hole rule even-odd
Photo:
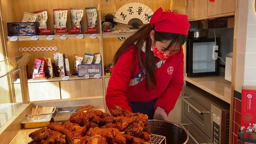
<svg viewBox="0 0 256 144">
<path fill-rule="evenodd" d="M 68 121 L 69 117 L 72 115 L 73 110 L 78 107 L 81 106 L 56 108 L 53 116 L 54 122 Z"/>
</svg>

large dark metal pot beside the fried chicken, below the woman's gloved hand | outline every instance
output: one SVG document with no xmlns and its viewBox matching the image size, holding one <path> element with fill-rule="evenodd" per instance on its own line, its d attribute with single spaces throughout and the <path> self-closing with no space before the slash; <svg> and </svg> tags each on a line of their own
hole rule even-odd
<svg viewBox="0 0 256 144">
<path fill-rule="evenodd" d="M 189 139 L 188 132 L 182 127 L 163 120 L 148 120 L 151 125 L 149 132 L 166 137 L 166 144 L 186 144 Z"/>
</svg>

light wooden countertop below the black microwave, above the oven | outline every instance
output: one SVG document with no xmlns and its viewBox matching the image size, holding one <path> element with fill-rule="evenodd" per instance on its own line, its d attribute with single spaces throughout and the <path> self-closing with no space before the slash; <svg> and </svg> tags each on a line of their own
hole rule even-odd
<svg viewBox="0 0 256 144">
<path fill-rule="evenodd" d="M 185 77 L 185 81 L 231 104 L 231 82 L 224 76 Z"/>
</svg>

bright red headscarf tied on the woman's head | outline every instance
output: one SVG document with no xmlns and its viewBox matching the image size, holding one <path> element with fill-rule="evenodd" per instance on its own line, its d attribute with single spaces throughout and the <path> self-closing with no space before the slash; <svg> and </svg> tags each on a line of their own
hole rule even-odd
<svg viewBox="0 0 256 144">
<path fill-rule="evenodd" d="M 150 26 L 155 31 L 188 35 L 190 24 L 187 15 L 176 14 L 172 11 L 163 12 L 162 8 L 155 11 L 150 19 Z"/>
</svg>

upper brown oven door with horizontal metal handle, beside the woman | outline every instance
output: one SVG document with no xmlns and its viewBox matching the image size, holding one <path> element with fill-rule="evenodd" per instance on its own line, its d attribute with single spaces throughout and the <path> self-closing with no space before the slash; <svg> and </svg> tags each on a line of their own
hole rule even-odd
<svg viewBox="0 0 256 144">
<path fill-rule="evenodd" d="M 211 136 L 211 112 L 201 106 L 190 97 L 182 97 L 183 114 L 188 117 L 195 126 L 199 127 L 209 138 Z"/>
</svg>

